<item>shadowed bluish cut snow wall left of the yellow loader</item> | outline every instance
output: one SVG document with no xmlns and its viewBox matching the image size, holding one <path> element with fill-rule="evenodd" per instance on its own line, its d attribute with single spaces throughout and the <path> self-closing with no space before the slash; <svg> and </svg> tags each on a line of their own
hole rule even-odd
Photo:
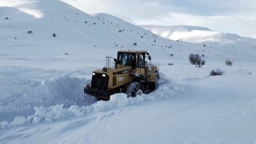
<svg viewBox="0 0 256 144">
<path fill-rule="evenodd" d="M 84 78 L 71 78 L 64 74 L 57 78 L 48 78 L 39 82 L 33 79 L 10 78 L 0 76 L 0 116 L 24 113 L 35 106 L 53 106 L 63 104 L 88 106 L 95 102 L 92 97 L 85 97 Z M 30 113 L 33 114 L 33 113 Z M 17 116 L 17 115 L 16 115 Z"/>
</svg>

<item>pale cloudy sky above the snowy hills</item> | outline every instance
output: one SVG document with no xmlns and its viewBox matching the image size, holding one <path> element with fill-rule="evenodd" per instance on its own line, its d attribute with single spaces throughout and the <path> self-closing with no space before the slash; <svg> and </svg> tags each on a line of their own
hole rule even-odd
<svg viewBox="0 0 256 144">
<path fill-rule="evenodd" d="M 61 0 L 88 14 L 106 13 L 135 25 L 204 26 L 256 38 L 255 0 Z"/>
</svg>

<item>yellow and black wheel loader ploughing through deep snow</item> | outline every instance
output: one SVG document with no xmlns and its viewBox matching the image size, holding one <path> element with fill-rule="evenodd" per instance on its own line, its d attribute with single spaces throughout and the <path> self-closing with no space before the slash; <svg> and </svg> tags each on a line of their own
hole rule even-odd
<svg viewBox="0 0 256 144">
<path fill-rule="evenodd" d="M 106 66 L 92 72 L 84 92 L 106 101 L 116 93 L 126 93 L 128 98 L 148 94 L 157 88 L 159 78 L 159 65 L 150 61 L 145 50 L 119 50 L 117 58 L 106 57 Z"/>
</svg>

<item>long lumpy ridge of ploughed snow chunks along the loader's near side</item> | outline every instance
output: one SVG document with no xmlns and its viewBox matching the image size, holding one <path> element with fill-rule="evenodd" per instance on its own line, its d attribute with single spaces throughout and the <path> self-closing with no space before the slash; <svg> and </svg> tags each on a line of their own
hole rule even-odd
<svg viewBox="0 0 256 144">
<path fill-rule="evenodd" d="M 33 115 L 30 115 L 27 118 L 18 116 L 10 123 L 6 121 L 0 122 L 0 127 L 5 129 L 29 123 L 53 122 L 62 118 L 82 117 L 86 114 L 112 110 L 117 107 L 130 106 L 147 100 L 168 98 L 178 94 L 180 94 L 180 90 L 176 83 L 172 82 L 170 79 L 161 78 L 161 80 L 159 80 L 158 90 L 155 90 L 150 94 L 142 94 L 136 98 L 127 98 L 127 95 L 123 93 L 113 94 L 110 96 L 110 101 L 98 101 L 91 106 L 73 105 L 70 106 L 70 108 L 64 108 L 63 104 L 50 107 L 36 106 L 34 107 L 35 112 Z"/>
</svg>

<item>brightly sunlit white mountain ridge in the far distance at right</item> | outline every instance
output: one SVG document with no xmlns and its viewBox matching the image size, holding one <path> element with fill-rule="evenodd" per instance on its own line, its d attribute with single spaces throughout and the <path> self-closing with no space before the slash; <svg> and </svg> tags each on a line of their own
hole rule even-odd
<svg viewBox="0 0 256 144">
<path fill-rule="evenodd" d="M 210 30 L 200 26 L 154 26 L 141 25 L 142 28 L 150 30 L 154 34 L 158 34 L 162 38 L 170 40 L 180 40 L 192 43 L 201 42 L 237 42 L 251 41 L 256 42 L 254 38 L 243 38 L 238 34 L 226 34 Z"/>
</svg>

